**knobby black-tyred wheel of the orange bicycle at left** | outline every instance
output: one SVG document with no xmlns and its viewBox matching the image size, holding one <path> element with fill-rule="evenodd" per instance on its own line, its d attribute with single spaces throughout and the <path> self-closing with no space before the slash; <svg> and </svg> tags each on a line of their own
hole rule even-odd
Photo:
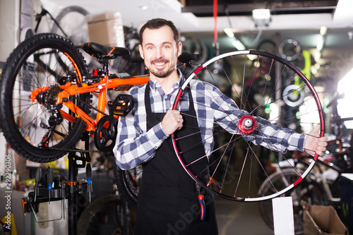
<svg viewBox="0 0 353 235">
<path fill-rule="evenodd" d="M 40 34 L 18 45 L 8 57 L 0 80 L 1 125 L 13 150 L 32 162 L 52 162 L 76 145 L 85 123 L 65 104 L 56 104 L 56 98 L 62 91 L 59 83 L 87 74 L 83 56 L 64 37 Z M 37 89 L 43 90 L 31 100 Z M 89 102 L 89 93 L 72 95 L 69 100 L 89 112 L 79 102 Z M 63 119 L 64 114 L 70 120 Z"/>
</svg>

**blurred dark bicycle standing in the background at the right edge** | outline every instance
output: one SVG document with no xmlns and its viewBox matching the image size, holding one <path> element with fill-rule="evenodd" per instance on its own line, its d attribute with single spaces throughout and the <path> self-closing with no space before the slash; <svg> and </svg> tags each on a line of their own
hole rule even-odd
<svg viewBox="0 0 353 235">
<path fill-rule="evenodd" d="M 351 135 L 344 138 L 342 131 L 345 121 L 353 120 L 353 117 L 342 119 L 337 112 L 337 100 L 342 99 L 343 95 L 336 94 L 333 100 L 327 105 L 332 107 L 331 120 L 333 136 L 328 141 L 328 154 L 325 157 L 318 157 L 315 170 L 311 171 L 308 176 L 293 191 L 285 193 L 292 196 L 294 206 L 294 231 L 295 234 L 304 232 L 303 209 L 300 205 L 301 200 L 306 200 L 309 205 L 337 205 L 340 203 L 340 195 L 337 190 L 340 175 L 346 172 L 352 172 L 352 147 L 353 140 Z M 261 191 L 264 193 L 273 189 L 272 185 L 290 184 L 298 174 L 305 170 L 306 164 L 303 164 L 306 155 L 298 155 L 296 161 L 291 164 L 281 162 L 275 164 L 275 172 L 270 174 L 261 185 Z M 291 166 L 296 166 L 295 169 Z M 287 168 L 289 167 L 289 168 Z M 284 195 L 284 196 L 285 196 Z M 261 201 L 259 204 L 261 217 L 265 224 L 273 229 L 273 212 L 272 201 Z"/>
</svg>

